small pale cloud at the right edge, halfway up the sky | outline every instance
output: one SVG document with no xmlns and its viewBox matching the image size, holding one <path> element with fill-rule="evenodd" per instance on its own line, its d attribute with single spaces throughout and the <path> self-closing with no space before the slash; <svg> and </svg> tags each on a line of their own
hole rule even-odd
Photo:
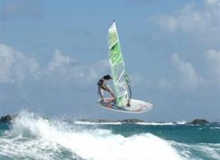
<svg viewBox="0 0 220 160">
<path fill-rule="evenodd" d="M 210 72 L 214 74 L 214 81 L 220 85 L 220 51 L 209 50 L 206 52 L 206 57 L 211 62 Z"/>
</svg>

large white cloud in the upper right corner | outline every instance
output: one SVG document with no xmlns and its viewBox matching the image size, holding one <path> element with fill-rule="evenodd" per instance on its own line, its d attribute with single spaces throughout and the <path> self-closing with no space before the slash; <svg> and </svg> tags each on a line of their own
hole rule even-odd
<svg viewBox="0 0 220 160">
<path fill-rule="evenodd" d="M 154 20 L 171 32 L 194 33 L 200 39 L 216 39 L 220 33 L 220 1 L 206 0 L 203 9 L 190 3 L 177 10 L 173 15 L 160 15 Z"/>
</svg>

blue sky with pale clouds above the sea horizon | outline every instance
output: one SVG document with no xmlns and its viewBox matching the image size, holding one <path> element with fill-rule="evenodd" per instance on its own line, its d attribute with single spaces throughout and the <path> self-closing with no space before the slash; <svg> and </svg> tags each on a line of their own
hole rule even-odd
<svg viewBox="0 0 220 160">
<path fill-rule="evenodd" d="M 113 20 L 132 96 L 150 112 L 96 103 Z M 1 0 L 0 116 L 220 121 L 219 42 L 220 0 Z"/>
</svg>

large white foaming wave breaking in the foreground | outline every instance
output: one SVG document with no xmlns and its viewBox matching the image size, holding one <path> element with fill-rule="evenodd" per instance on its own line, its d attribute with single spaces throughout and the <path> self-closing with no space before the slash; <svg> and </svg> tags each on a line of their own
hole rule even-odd
<svg viewBox="0 0 220 160">
<path fill-rule="evenodd" d="M 12 129 L 0 139 L 0 143 L 1 155 L 19 159 L 65 159 L 59 157 L 63 149 L 71 158 L 85 160 L 184 159 L 170 142 L 150 133 L 125 137 L 113 134 L 111 130 L 77 128 L 27 112 L 15 119 Z"/>
</svg>

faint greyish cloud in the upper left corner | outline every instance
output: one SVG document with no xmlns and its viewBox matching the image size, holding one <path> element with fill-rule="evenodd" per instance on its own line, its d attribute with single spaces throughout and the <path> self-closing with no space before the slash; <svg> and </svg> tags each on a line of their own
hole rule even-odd
<svg viewBox="0 0 220 160">
<path fill-rule="evenodd" d="M 3 3 L 1 18 L 13 19 L 22 16 L 40 17 L 42 8 L 38 0 L 11 0 Z"/>
</svg>

